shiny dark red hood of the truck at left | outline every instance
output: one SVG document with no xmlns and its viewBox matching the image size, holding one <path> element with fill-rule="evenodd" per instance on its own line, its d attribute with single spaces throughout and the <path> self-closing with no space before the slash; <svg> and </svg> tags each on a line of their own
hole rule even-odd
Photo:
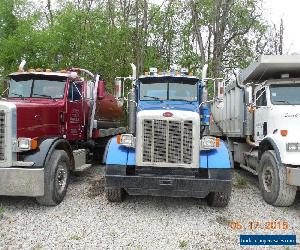
<svg viewBox="0 0 300 250">
<path fill-rule="evenodd" d="M 17 106 L 17 137 L 57 136 L 63 133 L 59 113 L 63 100 L 10 99 Z"/>
</svg>

